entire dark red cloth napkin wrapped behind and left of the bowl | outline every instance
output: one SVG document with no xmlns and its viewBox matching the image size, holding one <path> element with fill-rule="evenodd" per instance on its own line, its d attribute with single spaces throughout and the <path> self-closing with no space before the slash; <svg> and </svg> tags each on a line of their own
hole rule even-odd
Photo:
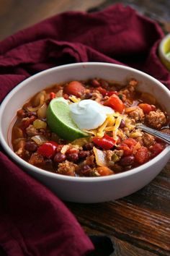
<svg viewBox="0 0 170 256">
<path fill-rule="evenodd" d="M 0 101 L 30 75 L 79 61 L 129 65 L 170 88 L 170 73 L 157 56 L 163 36 L 156 22 L 122 4 L 57 15 L 0 43 Z M 0 245 L 7 254 L 81 256 L 93 249 L 66 206 L 4 153 L 0 200 Z"/>
</svg>

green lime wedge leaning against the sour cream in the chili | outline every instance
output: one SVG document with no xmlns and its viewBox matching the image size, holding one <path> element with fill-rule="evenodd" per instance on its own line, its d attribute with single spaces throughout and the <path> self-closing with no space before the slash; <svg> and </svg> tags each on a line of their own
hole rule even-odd
<svg viewBox="0 0 170 256">
<path fill-rule="evenodd" d="M 88 136 L 71 119 L 68 101 L 63 97 L 54 98 L 50 101 L 47 121 L 50 129 L 65 140 L 76 140 Z"/>
</svg>

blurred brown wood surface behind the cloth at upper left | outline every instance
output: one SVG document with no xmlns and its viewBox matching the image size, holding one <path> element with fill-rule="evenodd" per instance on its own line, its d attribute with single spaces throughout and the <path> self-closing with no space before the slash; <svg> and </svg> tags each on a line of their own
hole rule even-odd
<svg viewBox="0 0 170 256">
<path fill-rule="evenodd" d="M 103 0 L 0 0 L 0 40 L 66 11 L 86 11 Z"/>
</svg>

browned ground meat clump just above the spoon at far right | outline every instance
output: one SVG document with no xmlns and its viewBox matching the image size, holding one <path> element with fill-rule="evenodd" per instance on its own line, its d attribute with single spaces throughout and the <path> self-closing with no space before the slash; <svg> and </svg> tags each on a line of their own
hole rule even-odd
<svg viewBox="0 0 170 256">
<path fill-rule="evenodd" d="M 161 129 L 166 124 L 166 116 L 160 109 L 157 109 L 146 115 L 146 121 L 151 127 Z"/>
</svg>

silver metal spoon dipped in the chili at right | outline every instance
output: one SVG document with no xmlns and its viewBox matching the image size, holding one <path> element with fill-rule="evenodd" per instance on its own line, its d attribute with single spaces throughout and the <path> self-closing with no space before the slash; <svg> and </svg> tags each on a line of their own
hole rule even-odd
<svg viewBox="0 0 170 256">
<path fill-rule="evenodd" d="M 136 124 L 137 128 L 142 129 L 144 132 L 148 132 L 150 135 L 153 135 L 161 140 L 164 140 L 166 143 L 170 144 L 170 135 L 164 132 L 158 132 L 156 129 L 146 127 L 144 124 Z"/>
</svg>

